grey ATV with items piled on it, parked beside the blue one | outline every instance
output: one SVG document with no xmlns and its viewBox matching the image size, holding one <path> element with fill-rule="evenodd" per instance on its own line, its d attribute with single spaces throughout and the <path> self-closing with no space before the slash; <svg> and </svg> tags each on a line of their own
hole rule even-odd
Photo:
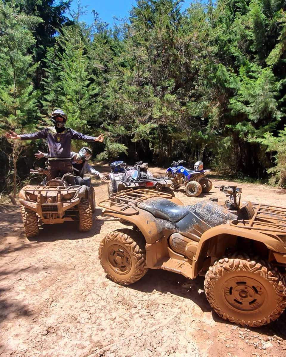
<svg viewBox="0 0 286 357">
<path fill-rule="evenodd" d="M 125 164 L 125 172 L 109 174 L 110 183 L 107 187 L 108 196 L 127 188 L 154 188 L 156 191 L 164 191 L 174 196 L 171 189 L 172 180 L 169 177 L 153 177 L 148 170 L 148 162 L 135 162 L 133 167 Z"/>
</svg>

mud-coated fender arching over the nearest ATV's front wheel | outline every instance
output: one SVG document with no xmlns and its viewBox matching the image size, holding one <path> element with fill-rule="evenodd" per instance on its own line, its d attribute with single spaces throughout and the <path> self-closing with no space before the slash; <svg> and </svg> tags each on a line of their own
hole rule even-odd
<svg viewBox="0 0 286 357">
<path fill-rule="evenodd" d="M 245 228 L 233 227 L 230 225 L 230 222 L 209 229 L 203 233 L 199 240 L 196 255 L 193 258 L 192 278 L 197 277 L 199 272 L 202 270 L 204 260 L 208 256 L 208 251 L 212 249 L 215 249 L 216 251 L 217 247 L 219 247 L 220 251 L 218 252 L 217 258 L 223 256 L 225 249 L 229 247 L 231 238 L 233 238 L 234 244 L 237 237 L 243 237 L 249 240 L 263 243 L 267 249 L 272 252 L 285 254 L 286 248 L 284 243 L 281 242 L 280 238 L 275 235 L 275 233 L 268 233 L 269 234 L 267 234 L 266 231 L 261 232 L 258 230 L 248 230 Z M 221 239 L 219 244 L 218 239 Z M 226 242 L 226 244 L 224 245 L 223 242 Z"/>
</svg>

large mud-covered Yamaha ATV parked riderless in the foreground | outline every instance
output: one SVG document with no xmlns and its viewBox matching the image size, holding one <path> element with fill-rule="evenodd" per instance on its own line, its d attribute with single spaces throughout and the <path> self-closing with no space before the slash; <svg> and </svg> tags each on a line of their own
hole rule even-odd
<svg viewBox="0 0 286 357">
<path fill-rule="evenodd" d="M 133 229 L 100 242 L 107 276 L 128 285 L 151 269 L 194 279 L 204 276 L 206 297 L 224 320 L 261 326 L 286 306 L 286 208 L 240 202 L 241 189 L 220 186 L 226 202 L 191 206 L 163 192 L 127 190 L 101 201 L 104 215 Z"/>
</svg>

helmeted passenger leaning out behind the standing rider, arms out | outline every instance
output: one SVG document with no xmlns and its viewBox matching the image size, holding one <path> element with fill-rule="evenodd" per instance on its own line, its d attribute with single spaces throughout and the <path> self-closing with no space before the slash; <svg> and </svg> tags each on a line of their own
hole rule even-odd
<svg viewBox="0 0 286 357">
<path fill-rule="evenodd" d="M 41 157 L 49 157 L 48 154 L 45 154 L 44 152 L 39 151 L 38 153 L 35 154 L 36 159 L 41 159 Z M 100 180 L 107 180 L 107 178 L 103 175 L 100 174 L 99 171 L 94 170 L 93 167 L 91 167 L 88 163 L 88 160 L 92 157 L 92 149 L 89 147 L 82 147 L 79 152 L 71 152 L 70 153 L 70 158 L 71 158 L 71 164 L 73 166 L 73 173 L 77 175 L 76 178 L 76 183 L 77 185 L 83 185 L 83 175 L 87 172 L 94 176 L 98 176 Z"/>
</svg>

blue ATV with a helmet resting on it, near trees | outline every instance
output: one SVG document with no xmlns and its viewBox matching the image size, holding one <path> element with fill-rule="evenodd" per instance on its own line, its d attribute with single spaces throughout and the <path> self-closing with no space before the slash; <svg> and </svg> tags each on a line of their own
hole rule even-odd
<svg viewBox="0 0 286 357">
<path fill-rule="evenodd" d="M 187 196 L 197 197 L 202 192 L 209 192 L 212 189 L 212 181 L 204 177 L 211 170 L 203 170 L 202 161 L 194 164 L 194 170 L 187 169 L 180 164 L 183 160 L 172 162 L 172 166 L 167 169 L 168 177 L 173 178 L 172 187 L 179 188 L 185 186 Z"/>
</svg>

